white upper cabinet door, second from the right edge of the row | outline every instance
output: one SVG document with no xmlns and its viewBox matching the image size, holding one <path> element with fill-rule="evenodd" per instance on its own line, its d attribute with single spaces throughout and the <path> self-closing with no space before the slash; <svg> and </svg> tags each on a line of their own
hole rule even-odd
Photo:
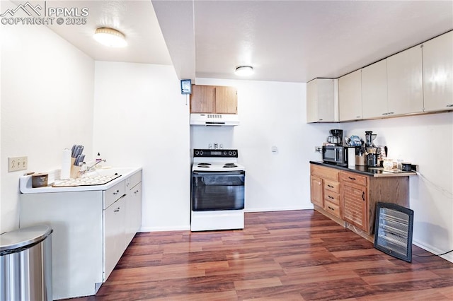
<svg viewBox="0 0 453 301">
<path fill-rule="evenodd" d="M 387 59 L 390 116 L 423 112 L 422 48 L 409 48 Z"/>
</svg>

